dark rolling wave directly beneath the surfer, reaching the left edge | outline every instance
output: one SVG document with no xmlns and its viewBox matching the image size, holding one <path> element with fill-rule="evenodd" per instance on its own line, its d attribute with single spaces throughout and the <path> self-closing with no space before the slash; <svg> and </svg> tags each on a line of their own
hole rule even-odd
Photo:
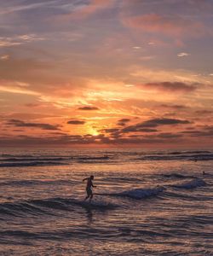
<svg viewBox="0 0 213 256">
<path fill-rule="evenodd" d="M 71 211 L 73 207 L 105 211 L 117 208 L 118 205 L 107 201 L 92 201 L 90 203 L 89 201 L 80 201 L 78 199 L 48 198 L 20 202 L 4 202 L 0 204 L 0 214 L 16 217 L 25 216 L 27 213 L 32 215 L 55 215 L 55 212 L 51 210 Z"/>
</svg>

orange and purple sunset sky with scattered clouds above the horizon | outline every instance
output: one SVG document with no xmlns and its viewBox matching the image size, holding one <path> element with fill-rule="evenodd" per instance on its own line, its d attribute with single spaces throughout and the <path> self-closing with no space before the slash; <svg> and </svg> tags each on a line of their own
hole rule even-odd
<svg viewBox="0 0 213 256">
<path fill-rule="evenodd" d="M 1 147 L 212 147 L 212 0 L 0 6 Z"/>
</svg>

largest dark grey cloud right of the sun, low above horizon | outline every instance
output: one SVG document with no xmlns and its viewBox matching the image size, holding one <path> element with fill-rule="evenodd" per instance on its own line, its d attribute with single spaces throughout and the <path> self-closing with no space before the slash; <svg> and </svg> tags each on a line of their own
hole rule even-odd
<svg viewBox="0 0 213 256">
<path fill-rule="evenodd" d="M 187 125 L 190 124 L 188 120 L 182 119 L 149 119 L 142 123 L 138 123 L 136 125 L 130 125 L 125 127 L 121 132 L 138 132 L 143 131 L 144 128 L 155 128 L 160 125 Z M 144 130 L 146 131 L 146 130 Z M 153 132 L 157 130 L 147 130 L 148 132 Z"/>
</svg>

